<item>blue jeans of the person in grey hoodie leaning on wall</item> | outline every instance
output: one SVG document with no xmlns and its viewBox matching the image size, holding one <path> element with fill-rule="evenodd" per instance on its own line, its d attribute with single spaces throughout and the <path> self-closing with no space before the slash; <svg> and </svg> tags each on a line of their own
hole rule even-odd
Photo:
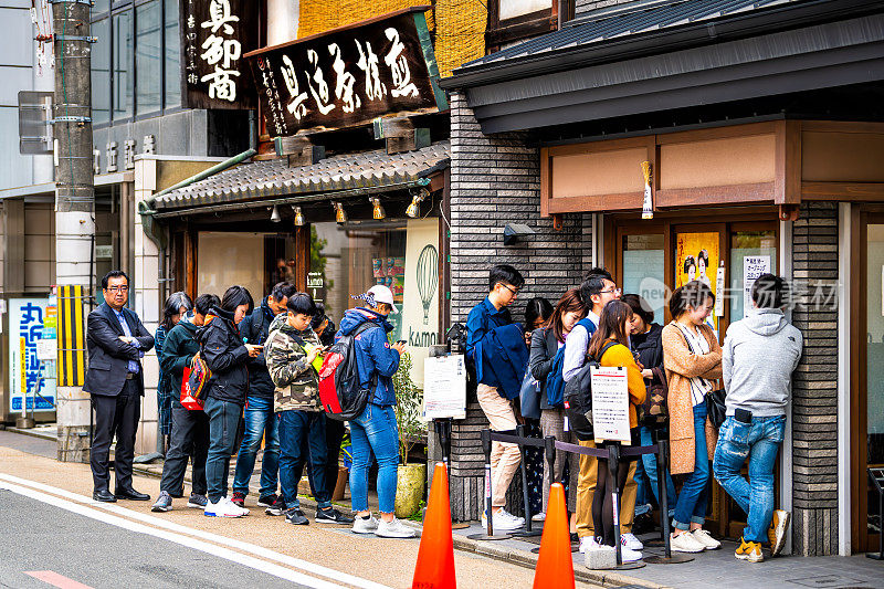
<svg viewBox="0 0 884 589">
<path fill-rule="evenodd" d="M 746 541 L 767 541 L 774 515 L 774 463 L 782 444 L 786 416 L 753 418 L 743 423 L 729 416 L 718 432 L 715 480 L 747 514 Z M 749 481 L 739 471 L 749 459 Z"/>
</svg>

